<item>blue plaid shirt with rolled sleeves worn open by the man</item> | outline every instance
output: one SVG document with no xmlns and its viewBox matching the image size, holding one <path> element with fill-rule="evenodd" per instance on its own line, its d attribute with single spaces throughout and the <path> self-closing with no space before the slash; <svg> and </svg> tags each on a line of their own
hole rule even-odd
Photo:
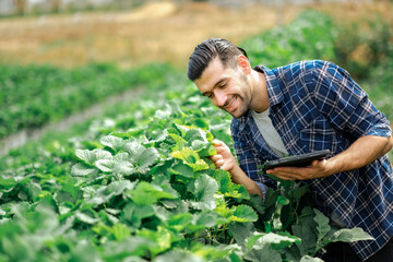
<svg viewBox="0 0 393 262">
<path fill-rule="evenodd" d="M 390 136 L 385 116 L 369 100 L 348 72 L 326 61 L 301 61 L 265 74 L 270 118 L 290 155 L 330 150 L 336 155 L 365 135 Z M 233 119 L 235 151 L 245 172 L 275 188 L 258 166 L 278 156 L 267 146 L 251 112 Z M 348 228 L 361 227 L 374 241 L 350 243 L 361 259 L 376 253 L 393 236 L 393 177 L 386 155 L 352 171 L 305 181 L 317 206 L 334 211 Z"/>
</svg>

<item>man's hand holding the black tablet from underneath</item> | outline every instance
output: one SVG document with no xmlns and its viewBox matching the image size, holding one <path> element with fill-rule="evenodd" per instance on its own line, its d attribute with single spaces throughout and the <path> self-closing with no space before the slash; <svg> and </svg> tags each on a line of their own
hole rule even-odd
<svg viewBox="0 0 393 262">
<path fill-rule="evenodd" d="M 327 160 L 313 160 L 307 167 L 276 167 L 269 169 L 266 174 L 271 174 L 284 180 L 307 180 L 327 177 L 330 174 Z"/>
</svg>

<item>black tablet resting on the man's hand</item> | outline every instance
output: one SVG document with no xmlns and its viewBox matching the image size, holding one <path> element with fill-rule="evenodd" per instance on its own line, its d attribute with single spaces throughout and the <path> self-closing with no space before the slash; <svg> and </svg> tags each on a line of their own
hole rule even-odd
<svg viewBox="0 0 393 262">
<path fill-rule="evenodd" d="M 302 155 L 295 155 L 295 156 L 288 156 L 283 157 L 276 160 L 270 160 L 266 162 L 263 166 L 263 172 L 265 172 L 267 169 L 273 169 L 275 167 L 306 167 L 311 165 L 312 160 L 322 160 L 326 156 L 331 154 L 330 150 L 324 151 L 315 151 L 312 153 L 307 153 Z"/>
</svg>

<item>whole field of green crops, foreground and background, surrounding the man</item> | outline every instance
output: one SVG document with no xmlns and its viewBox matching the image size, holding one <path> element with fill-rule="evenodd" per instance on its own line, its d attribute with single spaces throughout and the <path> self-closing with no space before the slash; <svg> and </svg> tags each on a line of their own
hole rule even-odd
<svg viewBox="0 0 393 262">
<path fill-rule="evenodd" d="M 393 121 L 392 44 L 383 38 L 391 32 L 372 22 L 366 39 L 345 34 L 324 13 L 306 11 L 239 45 L 253 64 L 340 62 Z M 344 41 L 354 50 L 367 43 L 362 55 L 372 64 L 338 56 Z M 231 146 L 230 117 L 181 70 L 164 63 L 0 69 L 0 138 L 128 88 L 145 91 L 138 103 L 108 105 L 105 116 L 1 157 L 0 261 L 305 262 L 321 261 L 330 242 L 370 239 L 360 228 L 330 226 L 305 184 L 281 181 L 262 201 L 215 169 L 212 141 Z"/>
</svg>

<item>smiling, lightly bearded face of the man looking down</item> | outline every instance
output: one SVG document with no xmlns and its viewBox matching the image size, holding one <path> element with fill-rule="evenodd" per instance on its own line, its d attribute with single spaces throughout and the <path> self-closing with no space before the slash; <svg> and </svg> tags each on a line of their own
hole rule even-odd
<svg viewBox="0 0 393 262">
<path fill-rule="evenodd" d="M 203 96 L 235 118 L 249 109 L 251 88 L 240 67 L 224 68 L 221 60 L 215 58 L 194 83 Z"/>
</svg>

